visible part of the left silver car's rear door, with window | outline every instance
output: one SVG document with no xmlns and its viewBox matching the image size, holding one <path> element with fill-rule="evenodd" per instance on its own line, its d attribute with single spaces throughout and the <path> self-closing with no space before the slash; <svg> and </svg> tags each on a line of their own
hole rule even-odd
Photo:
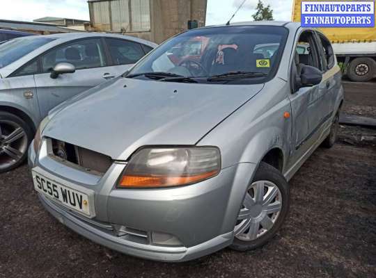
<svg viewBox="0 0 376 278">
<path fill-rule="evenodd" d="M 110 55 L 111 65 L 116 75 L 126 72 L 134 63 L 150 51 L 150 47 L 143 47 L 138 42 L 120 38 L 105 38 L 107 50 Z"/>
</svg>

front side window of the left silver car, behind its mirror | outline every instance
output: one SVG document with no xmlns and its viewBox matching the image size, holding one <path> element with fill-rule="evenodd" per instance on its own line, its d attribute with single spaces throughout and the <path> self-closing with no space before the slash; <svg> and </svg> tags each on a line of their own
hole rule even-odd
<svg viewBox="0 0 376 278">
<path fill-rule="evenodd" d="M 52 49 L 41 56 L 42 72 L 50 72 L 57 63 L 71 63 L 76 70 L 106 66 L 100 39 L 78 40 Z"/>
</svg>

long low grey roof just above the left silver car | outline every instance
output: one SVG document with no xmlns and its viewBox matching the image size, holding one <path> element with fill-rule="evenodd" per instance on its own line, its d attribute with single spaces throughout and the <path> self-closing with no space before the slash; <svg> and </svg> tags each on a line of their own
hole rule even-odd
<svg viewBox="0 0 376 278">
<path fill-rule="evenodd" d="M 40 22 L 20 22 L 15 20 L 0 19 L 0 28 L 31 30 L 31 31 L 49 31 L 57 33 L 79 32 L 70 28 L 57 26 L 56 24 L 40 23 Z"/>
</svg>

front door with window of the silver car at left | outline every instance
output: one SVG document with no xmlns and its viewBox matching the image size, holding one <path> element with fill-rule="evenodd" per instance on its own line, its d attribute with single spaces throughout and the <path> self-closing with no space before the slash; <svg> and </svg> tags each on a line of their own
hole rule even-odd
<svg viewBox="0 0 376 278">
<path fill-rule="evenodd" d="M 35 75 L 40 114 L 54 106 L 116 76 L 109 66 L 102 38 L 85 38 L 61 44 L 39 58 L 40 73 Z M 73 74 L 60 74 L 52 79 L 50 72 L 57 63 L 75 65 Z"/>
</svg>

